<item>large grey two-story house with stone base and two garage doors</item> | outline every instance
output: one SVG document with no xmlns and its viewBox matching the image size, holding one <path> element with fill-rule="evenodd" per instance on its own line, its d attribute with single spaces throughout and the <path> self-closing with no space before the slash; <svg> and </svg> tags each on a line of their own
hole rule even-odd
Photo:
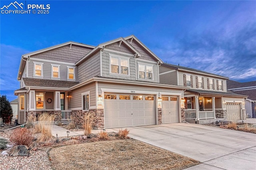
<svg viewBox="0 0 256 170">
<path fill-rule="evenodd" d="M 97 129 L 184 122 L 182 99 L 191 87 L 161 82 L 160 65 L 162 60 L 133 35 L 96 47 L 67 42 L 24 54 L 20 89 L 14 92 L 19 124 L 44 111 L 56 120 L 72 115 L 78 124 L 92 114 Z M 240 106 L 244 97 L 234 96 Z"/>
</svg>

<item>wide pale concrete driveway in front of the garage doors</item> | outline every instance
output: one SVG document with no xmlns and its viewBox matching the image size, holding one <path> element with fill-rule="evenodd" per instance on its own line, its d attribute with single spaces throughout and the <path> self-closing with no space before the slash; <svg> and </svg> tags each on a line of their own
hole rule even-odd
<svg viewBox="0 0 256 170">
<path fill-rule="evenodd" d="M 128 129 L 136 140 L 202 162 L 187 170 L 256 169 L 256 134 L 187 123 Z"/>
</svg>

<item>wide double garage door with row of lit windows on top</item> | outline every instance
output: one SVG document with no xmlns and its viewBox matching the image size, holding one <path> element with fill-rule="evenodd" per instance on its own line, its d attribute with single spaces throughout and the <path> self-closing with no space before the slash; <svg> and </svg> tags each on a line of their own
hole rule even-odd
<svg viewBox="0 0 256 170">
<path fill-rule="evenodd" d="M 154 95 L 104 95 L 105 128 L 156 125 Z"/>
</svg>

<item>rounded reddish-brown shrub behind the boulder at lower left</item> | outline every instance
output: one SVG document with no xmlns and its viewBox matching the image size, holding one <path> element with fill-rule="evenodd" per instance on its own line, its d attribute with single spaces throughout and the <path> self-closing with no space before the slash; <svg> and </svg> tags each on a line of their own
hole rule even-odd
<svg viewBox="0 0 256 170">
<path fill-rule="evenodd" d="M 10 136 L 10 142 L 14 145 L 26 145 L 30 146 L 32 144 L 32 132 L 27 128 L 16 128 L 13 130 L 12 135 Z"/>
</svg>

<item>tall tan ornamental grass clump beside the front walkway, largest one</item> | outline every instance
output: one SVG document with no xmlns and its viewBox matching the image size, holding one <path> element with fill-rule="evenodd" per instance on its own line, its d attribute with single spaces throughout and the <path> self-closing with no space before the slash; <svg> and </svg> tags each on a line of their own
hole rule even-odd
<svg viewBox="0 0 256 170">
<path fill-rule="evenodd" d="M 38 138 L 39 142 L 44 142 L 52 138 L 52 122 L 54 121 L 55 115 L 48 113 L 42 113 L 38 116 L 38 122 L 35 123 L 35 133 L 41 133 Z"/>
</svg>

